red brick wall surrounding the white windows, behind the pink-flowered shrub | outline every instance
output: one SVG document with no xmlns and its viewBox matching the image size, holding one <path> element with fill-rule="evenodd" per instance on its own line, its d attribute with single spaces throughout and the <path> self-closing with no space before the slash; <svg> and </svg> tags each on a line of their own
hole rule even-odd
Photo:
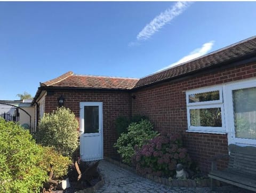
<svg viewBox="0 0 256 193">
<path fill-rule="evenodd" d="M 207 172 L 211 166 L 209 157 L 227 154 L 227 136 L 186 132 L 186 91 L 252 77 L 256 77 L 255 63 L 204 74 L 185 81 L 146 87 L 132 93 L 135 95 L 135 99 L 132 99 L 132 114 L 148 116 L 157 131 L 182 133 L 191 157 L 198 162 L 201 170 Z M 225 162 L 219 166 L 223 165 Z"/>
</svg>

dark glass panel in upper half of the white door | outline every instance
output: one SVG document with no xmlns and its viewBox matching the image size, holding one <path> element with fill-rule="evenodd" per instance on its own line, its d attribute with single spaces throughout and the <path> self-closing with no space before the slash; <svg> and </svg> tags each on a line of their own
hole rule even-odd
<svg viewBox="0 0 256 193">
<path fill-rule="evenodd" d="M 84 106 L 84 133 L 99 133 L 99 106 Z"/>
</svg>

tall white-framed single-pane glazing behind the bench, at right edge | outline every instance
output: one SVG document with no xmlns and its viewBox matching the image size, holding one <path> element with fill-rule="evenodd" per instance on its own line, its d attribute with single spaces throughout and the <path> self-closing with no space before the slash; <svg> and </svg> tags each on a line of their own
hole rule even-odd
<svg viewBox="0 0 256 193">
<path fill-rule="evenodd" d="M 225 86 L 228 143 L 256 145 L 256 81 Z"/>
</svg>

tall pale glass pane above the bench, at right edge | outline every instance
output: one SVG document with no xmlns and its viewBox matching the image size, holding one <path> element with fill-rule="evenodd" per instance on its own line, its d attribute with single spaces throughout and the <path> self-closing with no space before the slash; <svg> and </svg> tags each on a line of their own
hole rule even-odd
<svg viewBox="0 0 256 193">
<path fill-rule="evenodd" d="M 233 91 L 236 138 L 256 139 L 256 87 Z"/>
</svg>

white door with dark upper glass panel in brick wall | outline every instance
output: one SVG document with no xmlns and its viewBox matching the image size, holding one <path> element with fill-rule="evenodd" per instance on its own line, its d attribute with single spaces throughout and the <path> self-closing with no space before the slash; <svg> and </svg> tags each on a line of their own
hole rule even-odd
<svg viewBox="0 0 256 193">
<path fill-rule="evenodd" d="M 102 102 L 80 102 L 80 155 L 84 161 L 103 159 Z"/>
</svg>

